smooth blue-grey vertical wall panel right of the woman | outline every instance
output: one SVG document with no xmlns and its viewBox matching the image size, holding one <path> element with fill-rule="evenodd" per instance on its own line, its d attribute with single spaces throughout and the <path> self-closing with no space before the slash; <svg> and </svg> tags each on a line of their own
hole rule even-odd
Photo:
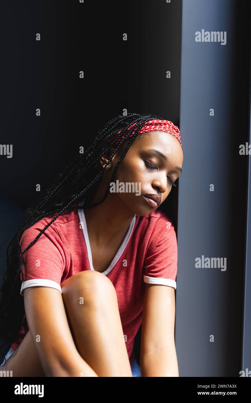
<svg viewBox="0 0 251 403">
<path fill-rule="evenodd" d="M 180 376 L 239 376 L 241 370 L 248 157 L 239 155 L 247 131 L 246 110 L 241 107 L 245 98 L 239 98 L 245 91 L 238 60 L 244 39 L 236 17 L 243 9 L 237 5 L 231 0 L 183 0 L 184 162 L 179 179 L 175 326 Z M 226 45 L 195 42 L 195 32 L 202 29 L 226 31 Z M 195 268 L 195 258 L 202 256 L 226 258 L 226 270 Z"/>
</svg>

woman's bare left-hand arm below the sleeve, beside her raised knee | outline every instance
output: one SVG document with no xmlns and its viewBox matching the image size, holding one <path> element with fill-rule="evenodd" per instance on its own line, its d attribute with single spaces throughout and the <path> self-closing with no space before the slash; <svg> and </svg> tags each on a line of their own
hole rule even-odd
<svg viewBox="0 0 251 403">
<path fill-rule="evenodd" d="M 76 349 L 60 291 L 51 287 L 26 288 L 24 303 L 45 375 L 97 376 Z"/>
</svg>

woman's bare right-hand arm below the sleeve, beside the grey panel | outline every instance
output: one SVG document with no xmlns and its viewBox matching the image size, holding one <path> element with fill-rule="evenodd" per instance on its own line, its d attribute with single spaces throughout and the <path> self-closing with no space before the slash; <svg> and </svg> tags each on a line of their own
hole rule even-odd
<svg viewBox="0 0 251 403">
<path fill-rule="evenodd" d="M 174 288 L 146 284 L 140 349 L 142 376 L 179 376 L 174 325 Z"/>
</svg>

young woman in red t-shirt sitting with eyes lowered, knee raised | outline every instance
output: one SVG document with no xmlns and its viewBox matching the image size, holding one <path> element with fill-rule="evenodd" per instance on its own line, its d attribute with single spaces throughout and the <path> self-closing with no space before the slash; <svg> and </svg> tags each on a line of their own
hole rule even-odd
<svg viewBox="0 0 251 403">
<path fill-rule="evenodd" d="M 182 163 L 172 122 L 120 115 L 28 208 L 11 260 L 7 248 L 0 337 L 10 349 L 2 371 L 179 376 L 177 239 L 157 208 Z M 141 323 L 139 367 L 133 347 Z"/>
</svg>

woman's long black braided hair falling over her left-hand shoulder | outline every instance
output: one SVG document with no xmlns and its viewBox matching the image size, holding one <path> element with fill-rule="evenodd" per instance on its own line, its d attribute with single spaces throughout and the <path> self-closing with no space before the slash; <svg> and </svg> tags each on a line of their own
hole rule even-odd
<svg viewBox="0 0 251 403">
<path fill-rule="evenodd" d="M 23 281 L 20 278 L 22 276 L 23 279 L 22 256 L 25 251 L 34 245 L 37 239 L 39 239 L 39 237 L 41 237 L 41 235 L 46 231 L 48 226 L 53 224 L 62 212 L 82 208 L 82 206 L 71 205 L 81 200 L 84 194 L 87 196 L 91 191 L 93 191 L 93 189 L 95 189 L 95 186 L 99 183 L 103 170 L 105 169 L 105 166 L 103 166 L 103 168 L 98 172 L 97 166 L 99 158 L 110 150 L 118 138 L 122 138 L 107 163 L 109 164 L 109 162 L 111 162 L 113 156 L 119 147 L 121 147 L 120 150 L 123 154 L 119 158 L 111 177 L 111 182 L 114 181 L 117 168 L 125 154 L 128 152 L 130 145 L 138 135 L 140 129 L 148 120 L 156 119 L 162 120 L 163 118 L 156 115 L 128 113 L 125 116 L 119 115 L 109 120 L 102 130 L 98 130 L 97 136 L 87 144 L 84 152 L 82 154 L 78 153 L 76 158 L 70 164 L 66 165 L 64 170 L 59 174 L 56 183 L 49 185 L 45 194 L 41 195 L 37 202 L 27 208 L 23 223 L 19 226 L 16 235 L 10 241 L 6 250 L 7 270 L 4 274 L 4 283 L 1 287 L 0 297 L 0 339 L 3 340 L 3 344 L 8 343 L 8 345 L 11 345 L 11 343 L 16 339 L 25 314 L 24 298 L 20 294 L 21 283 Z M 136 124 L 130 129 L 130 131 L 128 131 L 128 133 L 123 135 L 133 123 Z M 130 137 L 130 139 L 127 139 L 135 128 L 137 128 L 136 132 Z M 119 131 L 119 137 L 115 136 Z M 109 140 L 111 137 L 114 137 L 112 141 Z M 108 141 L 110 141 L 109 144 Z M 93 176 L 95 177 L 93 178 Z M 85 205 L 85 208 L 98 206 L 103 203 L 108 194 L 109 186 L 100 202 L 92 205 L 87 204 Z M 23 252 L 21 252 L 19 242 L 23 232 L 42 218 L 55 214 L 56 216 L 54 216 L 39 235 L 37 235 Z M 11 244 L 12 250 L 9 255 L 8 251 Z"/>
</svg>

